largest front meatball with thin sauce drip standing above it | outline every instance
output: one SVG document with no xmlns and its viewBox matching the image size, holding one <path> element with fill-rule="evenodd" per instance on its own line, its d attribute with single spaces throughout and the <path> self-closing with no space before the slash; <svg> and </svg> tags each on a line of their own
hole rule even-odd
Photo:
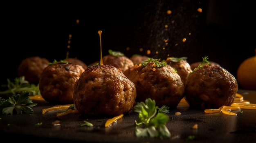
<svg viewBox="0 0 256 143">
<path fill-rule="evenodd" d="M 74 84 L 74 105 L 83 114 L 128 113 L 136 98 L 135 84 L 112 65 L 92 66 Z"/>
</svg>

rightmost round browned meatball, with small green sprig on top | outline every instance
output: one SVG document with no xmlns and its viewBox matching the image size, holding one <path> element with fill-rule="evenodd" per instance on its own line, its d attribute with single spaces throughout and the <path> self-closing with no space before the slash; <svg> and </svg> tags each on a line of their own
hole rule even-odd
<svg viewBox="0 0 256 143">
<path fill-rule="evenodd" d="M 204 64 L 187 78 L 185 99 L 189 108 L 220 108 L 230 106 L 237 91 L 238 84 L 231 73 L 221 66 Z"/>
</svg>

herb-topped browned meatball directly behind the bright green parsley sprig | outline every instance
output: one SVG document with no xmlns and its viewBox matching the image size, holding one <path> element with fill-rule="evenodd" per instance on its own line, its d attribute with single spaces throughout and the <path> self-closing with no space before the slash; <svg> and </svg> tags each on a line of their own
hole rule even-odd
<svg viewBox="0 0 256 143">
<path fill-rule="evenodd" d="M 165 105 L 175 109 L 184 97 L 184 84 L 180 75 L 169 65 L 157 68 L 150 62 L 132 70 L 128 78 L 136 86 L 137 102 L 151 98 L 157 106 Z"/>
</svg>

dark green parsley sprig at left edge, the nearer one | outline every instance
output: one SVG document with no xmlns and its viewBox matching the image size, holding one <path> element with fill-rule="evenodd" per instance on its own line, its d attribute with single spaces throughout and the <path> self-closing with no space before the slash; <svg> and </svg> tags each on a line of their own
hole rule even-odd
<svg viewBox="0 0 256 143">
<path fill-rule="evenodd" d="M 29 97 L 29 92 L 22 92 L 21 94 L 13 95 L 9 99 L 2 99 L 0 97 L 0 109 L 2 114 L 13 114 L 13 110 L 16 110 L 17 114 L 34 113 L 31 107 L 36 106 L 37 103 L 33 103 Z"/>
</svg>

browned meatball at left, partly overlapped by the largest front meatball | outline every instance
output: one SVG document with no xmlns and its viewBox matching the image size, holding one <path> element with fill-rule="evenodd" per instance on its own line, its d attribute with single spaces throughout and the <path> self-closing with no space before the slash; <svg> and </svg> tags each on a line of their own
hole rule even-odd
<svg viewBox="0 0 256 143">
<path fill-rule="evenodd" d="M 58 63 L 47 66 L 39 80 L 40 93 L 49 103 L 73 103 L 73 87 L 85 69 L 73 63 Z"/>
</svg>

